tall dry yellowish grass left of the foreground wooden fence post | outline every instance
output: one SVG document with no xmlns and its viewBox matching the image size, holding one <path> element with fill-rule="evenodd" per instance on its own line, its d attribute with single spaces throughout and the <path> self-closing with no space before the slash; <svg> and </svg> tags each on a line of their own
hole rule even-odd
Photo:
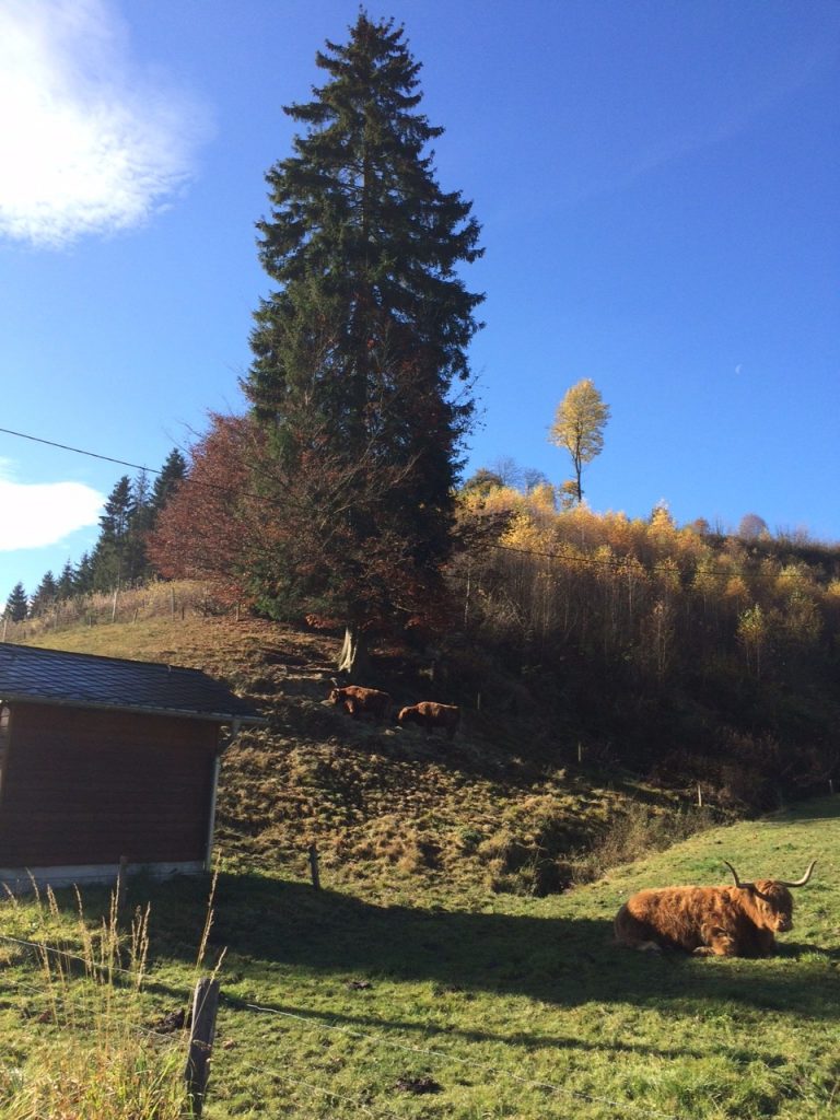
<svg viewBox="0 0 840 1120">
<path fill-rule="evenodd" d="M 180 1120 L 183 1054 L 144 1025 L 148 905 L 122 927 L 115 896 L 97 923 L 67 902 L 3 903 L 0 1117 Z"/>
</svg>

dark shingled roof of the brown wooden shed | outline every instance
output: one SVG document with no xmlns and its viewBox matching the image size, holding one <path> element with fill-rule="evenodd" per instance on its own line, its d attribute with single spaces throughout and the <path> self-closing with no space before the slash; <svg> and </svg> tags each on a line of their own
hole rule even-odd
<svg viewBox="0 0 840 1120">
<path fill-rule="evenodd" d="M 0 642 L 0 700 L 263 722 L 248 701 L 197 669 L 8 642 Z"/>
</svg>

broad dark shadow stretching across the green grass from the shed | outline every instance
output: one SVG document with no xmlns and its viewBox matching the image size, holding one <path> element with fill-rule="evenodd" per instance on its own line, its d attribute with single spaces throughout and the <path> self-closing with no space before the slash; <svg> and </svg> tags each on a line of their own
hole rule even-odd
<svg viewBox="0 0 840 1120">
<path fill-rule="evenodd" d="M 143 897 L 156 913 L 152 956 L 193 960 L 207 884 L 157 885 Z M 526 996 L 556 1007 L 631 1004 L 694 1015 L 708 1001 L 833 1021 L 840 1004 L 840 950 L 797 944 L 795 933 L 768 961 L 634 953 L 613 943 L 612 915 L 379 906 L 249 875 L 221 876 L 214 909 L 211 945 L 226 946 L 226 971 L 255 983 L 271 963 L 312 976 L 431 981 L 444 992 Z"/>
</svg>

